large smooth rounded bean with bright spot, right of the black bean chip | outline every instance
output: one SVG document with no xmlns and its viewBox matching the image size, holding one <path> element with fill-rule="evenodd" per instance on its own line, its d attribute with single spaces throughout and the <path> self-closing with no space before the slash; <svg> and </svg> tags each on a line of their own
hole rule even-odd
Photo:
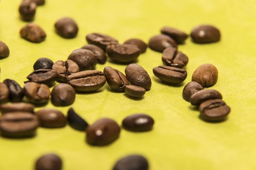
<svg viewBox="0 0 256 170">
<path fill-rule="evenodd" d="M 103 118 L 86 129 L 86 141 L 90 145 L 108 145 L 115 141 L 120 134 L 120 127 L 115 120 Z"/>
</svg>

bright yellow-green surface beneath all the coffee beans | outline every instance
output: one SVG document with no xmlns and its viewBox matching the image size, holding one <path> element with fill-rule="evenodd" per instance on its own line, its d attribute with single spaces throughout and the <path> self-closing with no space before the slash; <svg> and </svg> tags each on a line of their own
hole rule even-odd
<svg viewBox="0 0 256 170">
<path fill-rule="evenodd" d="M 152 88 L 142 100 L 112 92 L 106 84 L 95 93 L 77 94 L 72 105 L 89 123 L 109 117 L 121 124 L 128 115 L 147 113 L 155 119 L 153 131 L 122 130 L 111 145 L 92 147 L 85 142 L 85 133 L 69 126 L 39 128 L 34 138 L 0 138 L 0 170 L 32 170 L 36 158 L 48 152 L 62 157 L 64 170 L 110 170 L 118 158 L 130 153 L 145 155 L 151 170 L 256 169 L 255 0 L 46 0 L 34 21 L 47 34 L 39 44 L 20 38 L 20 28 L 26 24 L 19 18 L 20 1 L 0 1 L 0 40 L 11 51 L 0 60 L 1 82 L 10 78 L 23 85 L 39 57 L 66 60 L 86 44 L 85 35 L 92 32 L 109 34 L 120 43 L 132 37 L 148 42 L 165 25 L 190 33 L 198 24 L 213 24 L 222 37 L 206 45 L 189 38 L 179 46 L 189 57 L 188 77 L 180 86 L 163 84 L 154 76 L 152 68 L 162 64 L 161 53 L 148 49 L 138 59 L 152 78 Z M 73 17 L 79 25 L 75 39 L 55 34 L 54 23 L 64 16 Z M 218 69 L 217 84 L 211 88 L 219 90 L 232 109 L 225 122 L 198 119 L 199 112 L 182 99 L 183 86 L 203 63 Z M 102 71 L 105 66 L 125 69 L 109 61 L 96 69 Z M 56 108 L 50 102 L 44 107 Z M 57 109 L 66 114 L 69 107 Z"/>
</svg>

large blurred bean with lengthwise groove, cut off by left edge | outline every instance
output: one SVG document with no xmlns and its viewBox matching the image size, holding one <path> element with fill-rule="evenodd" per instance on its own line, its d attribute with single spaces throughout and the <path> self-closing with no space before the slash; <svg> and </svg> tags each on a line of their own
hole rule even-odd
<svg viewBox="0 0 256 170">
<path fill-rule="evenodd" d="M 0 117 L 0 132 L 4 137 L 35 136 L 38 127 L 38 117 L 29 112 L 10 112 Z"/>
</svg>

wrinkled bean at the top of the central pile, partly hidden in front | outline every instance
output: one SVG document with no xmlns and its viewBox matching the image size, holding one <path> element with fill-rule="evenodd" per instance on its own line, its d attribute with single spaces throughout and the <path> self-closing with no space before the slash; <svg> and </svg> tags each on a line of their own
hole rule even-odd
<svg viewBox="0 0 256 170">
<path fill-rule="evenodd" d="M 108 35 L 92 33 L 86 35 L 86 41 L 88 44 L 93 44 L 105 51 L 106 46 L 111 44 L 118 44 L 118 40 Z"/>
</svg>

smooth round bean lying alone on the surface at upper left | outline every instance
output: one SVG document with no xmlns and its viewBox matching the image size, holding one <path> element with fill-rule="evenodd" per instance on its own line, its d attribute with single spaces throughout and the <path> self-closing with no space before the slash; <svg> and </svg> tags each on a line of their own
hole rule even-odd
<svg viewBox="0 0 256 170">
<path fill-rule="evenodd" d="M 78 34 L 78 25 L 70 17 L 62 17 L 55 23 L 57 34 L 63 38 L 74 38 Z"/>
</svg>

